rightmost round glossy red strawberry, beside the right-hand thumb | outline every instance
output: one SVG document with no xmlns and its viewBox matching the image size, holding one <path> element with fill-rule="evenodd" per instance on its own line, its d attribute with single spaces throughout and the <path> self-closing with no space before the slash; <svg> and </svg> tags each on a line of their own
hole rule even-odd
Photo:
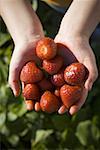
<svg viewBox="0 0 100 150">
<path fill-rule="evenodd" d="M 72 63 L 64 71 L 64 79 L 70 85 L 80 85 L 84 82 L 86 71 L 81 63 Z"/>
</svg>

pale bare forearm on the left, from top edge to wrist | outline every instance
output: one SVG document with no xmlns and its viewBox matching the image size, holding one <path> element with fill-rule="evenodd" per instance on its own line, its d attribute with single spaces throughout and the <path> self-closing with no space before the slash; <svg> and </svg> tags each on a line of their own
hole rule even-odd
<svg viewBox="0 0 100 150">
<path fill-rule="evenodd" d="M 1 16 L 16 45 L 30 43 L 43 37 L 41 22 L 29 1 L 1 0 L 0 9 Z"/>
</svg>

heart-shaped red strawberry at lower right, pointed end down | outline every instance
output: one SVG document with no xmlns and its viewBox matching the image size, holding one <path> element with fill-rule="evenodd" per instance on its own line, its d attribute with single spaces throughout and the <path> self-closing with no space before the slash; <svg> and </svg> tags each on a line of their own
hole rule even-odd
<svg viewBox="0 0 100 150">
<path fill-rule="evenodd" d="M 63 104 L 69 108 L 73 104 L 75 104 L 77 101 L 80 100 L 82 96 L 83 88 L 81 86 L 70 86 L 67 84 L 64 84 L 60 88 L 60 96 Z"/>
</svg>

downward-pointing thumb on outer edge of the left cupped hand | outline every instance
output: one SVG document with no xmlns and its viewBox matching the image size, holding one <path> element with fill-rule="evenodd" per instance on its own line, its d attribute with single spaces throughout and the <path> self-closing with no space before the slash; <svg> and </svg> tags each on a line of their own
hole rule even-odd
<svg viewBox="0 0 100 150">
<path fill-rule="evenodd" d="M 20 71 L 22 66 L 25 64 L 25 60 L 22 59 L 20 53 L 18 52 L 19 49 L 15 49 L 12 55 L 12 59 L 10 62 L 9 67 L 9 85 L 13 90 L 15 96 L 18 96 L 20 93 Z"/>
</svg>

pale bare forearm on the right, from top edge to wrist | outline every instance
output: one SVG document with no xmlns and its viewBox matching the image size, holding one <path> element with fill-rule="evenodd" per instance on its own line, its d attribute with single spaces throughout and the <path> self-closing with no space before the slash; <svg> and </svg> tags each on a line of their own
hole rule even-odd
<svg viewBox="0 0 100 150">
<path fill-rule="evenodd" d="M 62 19 L 59 33 L 90 38 L 100 20 L 98 1 L 73 1 Z"/>
</svg>

